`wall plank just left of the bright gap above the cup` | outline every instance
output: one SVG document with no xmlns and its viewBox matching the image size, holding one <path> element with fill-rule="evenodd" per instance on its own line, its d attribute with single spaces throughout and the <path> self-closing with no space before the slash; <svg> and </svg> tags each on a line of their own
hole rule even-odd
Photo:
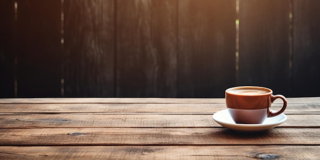
<svg viewBox="0 0 320 160">
<path fill-rule="evenodd" d="M 236 1 L 179 1 L 178 97 L 224 97 L 236 85 Z"/>
</svg>

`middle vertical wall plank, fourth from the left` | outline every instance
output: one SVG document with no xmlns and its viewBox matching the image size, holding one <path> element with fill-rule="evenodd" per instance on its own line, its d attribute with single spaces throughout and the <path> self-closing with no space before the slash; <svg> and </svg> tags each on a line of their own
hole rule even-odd
<svg viewBox="0 0 320 160">
<path fill-rule="evenodd" d="M 117 96 L 175 97 L 177 1 L 117 1 Z"/>
</svg>

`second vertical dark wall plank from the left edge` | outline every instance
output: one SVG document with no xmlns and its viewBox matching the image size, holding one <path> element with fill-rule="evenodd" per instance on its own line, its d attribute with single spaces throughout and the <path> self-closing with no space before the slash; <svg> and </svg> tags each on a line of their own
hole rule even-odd
<svg viewBox="0 0 320 160">
<path fill-rule="evenodd" d="M 59 97 L 60 1 L 17 0 L 18 97 Z"/>
</svg>

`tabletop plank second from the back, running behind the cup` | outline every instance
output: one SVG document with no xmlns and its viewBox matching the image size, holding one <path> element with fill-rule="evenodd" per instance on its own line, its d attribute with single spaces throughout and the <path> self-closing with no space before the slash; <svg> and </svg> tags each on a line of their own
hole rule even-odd
<svg viewBox="0 0 320 160">
<path fill-rule="evenodd" d="M 282 104 L 272 105 L 280 110 Z M 209 114 L 226 109 L 224 103 L 106 103 L 106 104 L 0 104 L 0 115 L 4 113 L 164 113 L 164 114 Z M 289 104 L 286 114 L 319 114 L 320 103 Z"/>
</svg>

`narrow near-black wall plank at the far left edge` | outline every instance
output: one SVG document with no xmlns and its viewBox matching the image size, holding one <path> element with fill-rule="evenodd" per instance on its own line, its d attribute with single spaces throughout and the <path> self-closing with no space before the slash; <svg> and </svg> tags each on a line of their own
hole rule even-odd
<svg viewBox="0 0 320 160">
<path fill-rule="evenodd" d="M 0 0 L 0 98 L 14 97 L 14 2 Z"/>
</svg>

